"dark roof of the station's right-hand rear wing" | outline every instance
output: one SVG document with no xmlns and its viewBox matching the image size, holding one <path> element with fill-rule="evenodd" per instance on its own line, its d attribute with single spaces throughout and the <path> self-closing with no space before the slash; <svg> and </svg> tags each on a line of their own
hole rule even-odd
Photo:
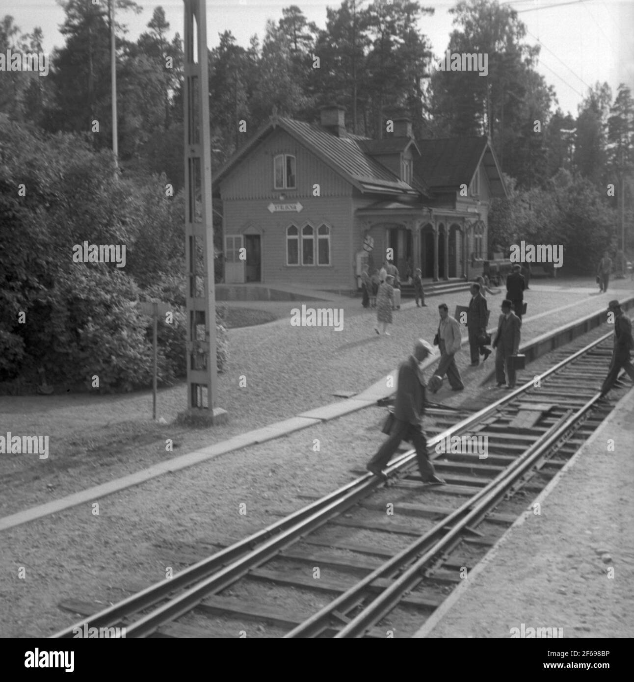
<svg viewBox="0 0 634 682">
<path fill-rule="evenodd" d="M 493 196 L 507 196 L 498 160 L 486 136 L 419 140 L 420 160 L 416 172 L 435 190 L 457 190 L 470 185 L 478 164 L 487 173 Z"/>
</svg>

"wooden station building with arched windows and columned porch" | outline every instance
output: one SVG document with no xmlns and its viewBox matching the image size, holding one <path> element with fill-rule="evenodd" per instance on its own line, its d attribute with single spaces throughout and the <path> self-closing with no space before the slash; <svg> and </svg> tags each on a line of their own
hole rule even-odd
<svg viewBox="0 0 634 682">
<path fill-rule="evenodd" d="M 372 140 L 347 132 L 341 107 L 320 117 L 271 117 L 213 178 L 225 283 L 352 290 L 388 248 L 402 280 L 417 267 L 470 278 L 487 258 L 491 198 L 506 196 L 488 138 L 415 140 L 401 118 Z"/>
</svg>

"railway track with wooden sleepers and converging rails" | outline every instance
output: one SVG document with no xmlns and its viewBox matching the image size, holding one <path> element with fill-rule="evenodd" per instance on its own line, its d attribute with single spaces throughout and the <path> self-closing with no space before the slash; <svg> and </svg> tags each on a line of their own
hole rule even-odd
<svg viewBox="0 0 634 682">
<path fill-rule="evenodd" d="M 446 486 L 422 484 L 406 451 L 387 484 L 363 475 L 54 637 L 84 626 L 126 637 L 412 634 L 611 410 L 596 391 L 611 348 L 612 333 L 577 340 L 476 413 L 433 408 L 428 447 L 445 446 L 434 464 Z M 463 436 L 486 451 L 451 451 Z"/>
</svg>

